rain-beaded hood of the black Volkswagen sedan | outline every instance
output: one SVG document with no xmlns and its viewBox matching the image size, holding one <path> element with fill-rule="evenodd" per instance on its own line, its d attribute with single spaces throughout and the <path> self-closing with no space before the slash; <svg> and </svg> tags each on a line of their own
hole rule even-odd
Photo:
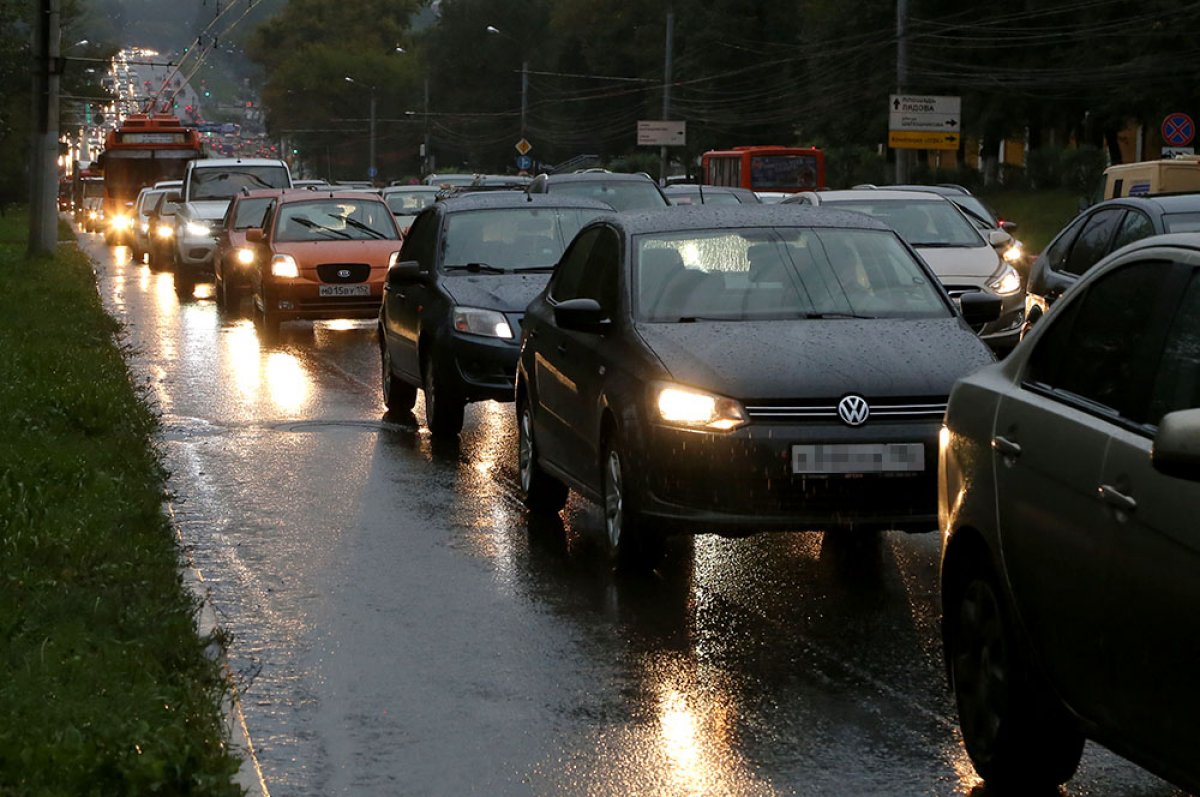
<svg viewBox="0 0 1200 797">
<path fill-rule="evenodd" d="M 637 324 L 671 378 L 734 398 L 946 396 L 995 361 L 958 318 Z"/>
</svg>

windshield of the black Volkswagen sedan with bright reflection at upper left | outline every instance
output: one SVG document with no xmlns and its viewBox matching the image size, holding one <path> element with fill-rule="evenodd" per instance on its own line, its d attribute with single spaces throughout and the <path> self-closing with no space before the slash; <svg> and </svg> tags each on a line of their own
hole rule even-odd
<svg viewBox="0 0 1200 797">
<path fill-rule="evenodd" d="M 702 229 L 635 239 L 644 322 L 948 318 L 935 280 L 888 230 Z"/>
</svg>

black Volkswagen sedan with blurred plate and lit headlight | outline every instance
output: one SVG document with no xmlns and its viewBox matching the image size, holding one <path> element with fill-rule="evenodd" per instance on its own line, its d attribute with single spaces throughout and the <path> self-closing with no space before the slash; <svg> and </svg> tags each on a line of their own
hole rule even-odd
<svg viewBox="0 0 1200 797">
<path fill-rule="evenodd" d="M 932 531 L 947 395 L 992 361 L 967 322 L 998 301 L 967 294 L 962 313 L 860 214 L 596 220 L 524 317 L 526 504 L 576 490 L 638 567 L 665 532 Z"/>
</svg>

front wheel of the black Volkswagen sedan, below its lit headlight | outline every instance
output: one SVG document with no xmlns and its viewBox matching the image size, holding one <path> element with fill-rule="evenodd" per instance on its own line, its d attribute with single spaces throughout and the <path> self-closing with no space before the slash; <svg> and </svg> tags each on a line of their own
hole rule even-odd
<svg viewBox="0 0 1200 797">
<path fill-rule="evenodd" d="M 650 571 L 666 553 L 665 540 L 641 513 L 636 481 L 631 478 L 628 456 L 616 435 L 611 435 L 602 447 L 600 466 L 608 558 L 623 570 Z"/>
</svg>

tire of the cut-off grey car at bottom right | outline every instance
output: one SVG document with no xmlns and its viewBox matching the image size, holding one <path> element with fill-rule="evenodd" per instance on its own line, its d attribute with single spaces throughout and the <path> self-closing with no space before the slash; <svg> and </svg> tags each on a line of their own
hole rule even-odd
<svg viewBox="0 0 1200 797">
<path fill-rule="evenodd" d="M 1075 729 L 1014 633 L 996 576 L 980 568 L 948 607 L 950 681 L 962 742 L 990 786 L 1014 793 L 1070 780 L 1084 754 Z"/>
</svg>

